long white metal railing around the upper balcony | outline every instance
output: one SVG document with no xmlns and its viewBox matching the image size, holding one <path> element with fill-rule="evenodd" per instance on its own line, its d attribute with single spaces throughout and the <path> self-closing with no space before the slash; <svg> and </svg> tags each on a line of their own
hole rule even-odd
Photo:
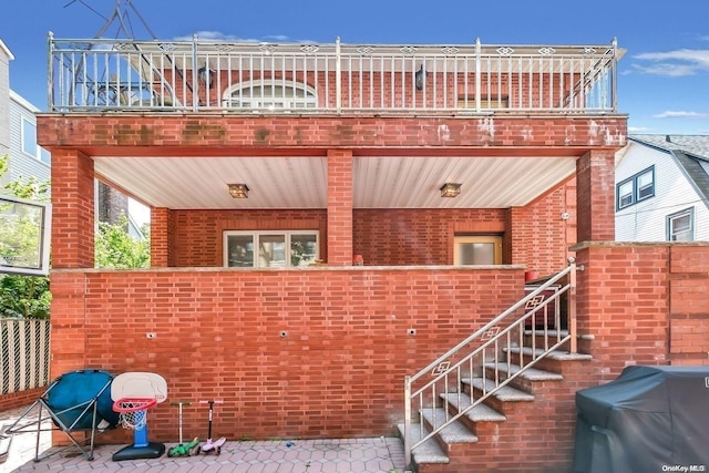
<svg viewBox="0 0 709 473">
<path fill-rule="evenodd" d="M 52 112 L 615 113 L 609 45 L 59 40 Z"/>
</svg>

